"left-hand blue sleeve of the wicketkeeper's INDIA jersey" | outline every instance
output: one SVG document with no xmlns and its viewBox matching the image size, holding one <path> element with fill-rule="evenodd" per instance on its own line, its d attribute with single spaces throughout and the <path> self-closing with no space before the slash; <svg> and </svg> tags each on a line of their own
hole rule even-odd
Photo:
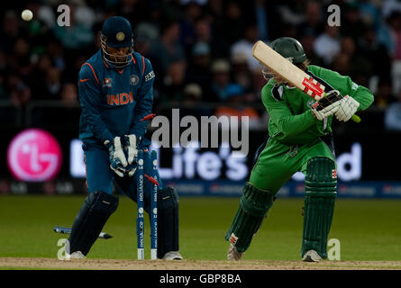
<svg viewBox="0 0 401 288">
<path fill-rule="evenodd" d="M 78 75 L 78 95 L 82 116 L 96 139 L 102 143 L 113 140 L 100 114 L 101 90 L 95 71 L 90 64 L 84 64 Z"/>
</svg>

